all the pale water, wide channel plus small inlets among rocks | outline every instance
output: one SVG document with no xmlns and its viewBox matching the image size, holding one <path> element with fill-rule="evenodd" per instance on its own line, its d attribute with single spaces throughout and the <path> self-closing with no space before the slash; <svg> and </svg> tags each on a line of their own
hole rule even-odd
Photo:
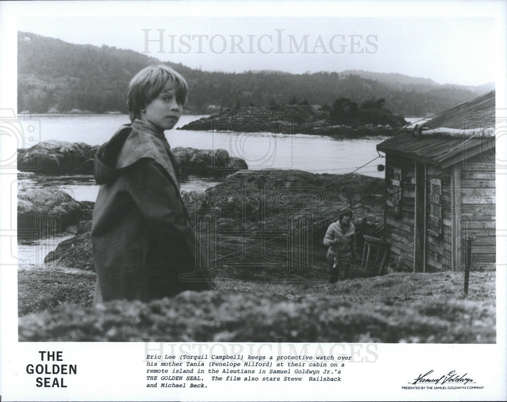
<svg viewBox="0 0 507 402">
<path fill-rule="evenodd" d="M 176 127 L 196 120 L 202 116 L 184 115 Z M 129 123 L 127 115 L 121 114 L 84 114 L 84 115 L 25 115 L 32 120 L 32 126 L 40 128 L 32 133 L 34 141 L 61 140 L 84 142 L 99 145 L 111 138 L 122 125 Z M 29 123 L 29 122 L 27 122 Z M 226 149 L 231 156 L 245 159 L 249 169 L 259 170 L 299 169 L 313 173 L 345 174 L 352 172 L 378 156 L 376 145 L 386 137 L 367 137 L 360 139 L 339 139 L 318 135 L 283 135 L 273 133 L 231 133 L 211 131 L 171 130 L 166 132 L 171 147 L 193 147 L 199 149 Z M 32 141 L 33 143 L 33 141 Z M 30 144 L 32 145 L 32 144 Z M 373 177 L 384 177 L 377 170 L 383 159 L 376 159 L 356 173 Z M 182 190 L 205 189 L 218 184 L 217 178 L 189 176 L 182 180 Z M 83 201 L 95 201 L 98 186 L 91 176 L 51 177 L 21 174 L 20 187 L 52 187 L 69 193 L 73 198 Z M 18 257 L 25 266 L 34 266 L 44 258 L 41 250 L 56 247 L 63 237 L 37 240 L 31 244 L 19 244 Z M 50 242 L 49 244 L 46 244 Z"/>
</svg>

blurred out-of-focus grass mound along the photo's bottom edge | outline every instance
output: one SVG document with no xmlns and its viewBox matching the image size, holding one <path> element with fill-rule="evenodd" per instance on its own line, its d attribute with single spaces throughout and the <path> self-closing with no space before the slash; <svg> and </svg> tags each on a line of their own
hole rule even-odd
<svg viewBox="0 0 507 402">
<path fill-rule="evenodd" d="M 20 341 L 495 342 L 492 302 L 406 306 L 291 300 L 272 294 L 184 292 L 150 303 L 62 305 L 20 319 Z"/>
</svg>

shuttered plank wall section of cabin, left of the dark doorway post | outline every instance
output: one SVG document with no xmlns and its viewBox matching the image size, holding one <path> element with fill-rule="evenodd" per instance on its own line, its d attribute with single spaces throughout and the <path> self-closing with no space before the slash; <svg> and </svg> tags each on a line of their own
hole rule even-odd
<svg viewBox="0 0 507 402">
<path fill-rule="evenodd" d="M 387 197 L 384 212 L 384 233 L 390 245 L 389 265 L 414 266 L 414 161 L 386 154 L 385 181 L 388 194 L 392 194 L 394 169 L 401 170 L 400 212 L 393 208 L 393 195 Z"/>
</svg>

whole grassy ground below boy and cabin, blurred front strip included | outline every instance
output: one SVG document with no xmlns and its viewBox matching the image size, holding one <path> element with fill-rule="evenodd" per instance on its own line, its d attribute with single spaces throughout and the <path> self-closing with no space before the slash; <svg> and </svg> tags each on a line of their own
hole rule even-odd
<svg viewBox="0 0 507 402">
<path fill-rule="evenodd" d="M 34 282 L 44 283 L 33 292 Z M 323 280 L 219 280 L 217 290 L 151 303 L 90 307 L 95 274 L 19 274 L 20 341 L 429 342 L 496 341 L 495 273 L 392 273 Z M 49 307 L 49 308 L 48 308 Z M 276 339 L 275 339 L 276 338 Z"/>
</svg>

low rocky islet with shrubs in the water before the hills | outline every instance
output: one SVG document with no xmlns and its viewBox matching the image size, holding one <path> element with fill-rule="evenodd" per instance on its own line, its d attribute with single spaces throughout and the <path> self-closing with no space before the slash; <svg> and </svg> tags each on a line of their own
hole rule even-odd
<svg viewBox="0 0 507 402">
<path fill-rule="evenodd" d="M 177 130 L 270 132 L 280 134 L 316 134 L 343 137 L 390 136 L 408 122 L 384 108 L 385 99 L 366 100 L 360 104 L 338 98 L 333 106 L 271 101 L 267 107 L 250 104 L 202 117 Z"/>
</svg>

